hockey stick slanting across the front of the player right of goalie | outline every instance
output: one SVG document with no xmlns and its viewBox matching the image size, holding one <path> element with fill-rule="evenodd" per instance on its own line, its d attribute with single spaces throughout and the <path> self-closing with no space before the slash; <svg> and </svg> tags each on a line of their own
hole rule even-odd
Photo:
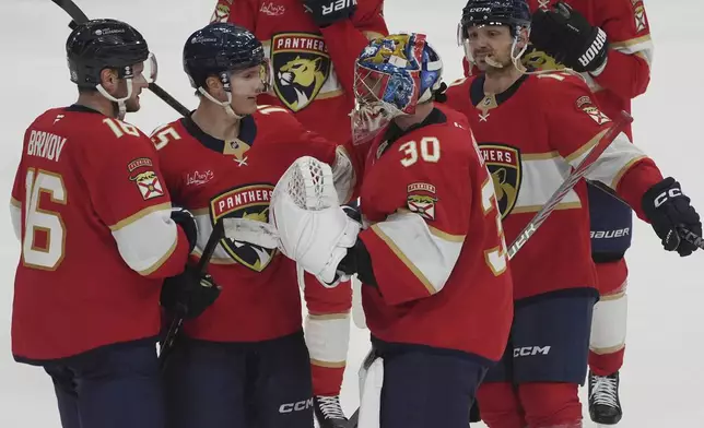
<svg viewBox="0 0 704 428">
<path fill-rule="evenodd" d="M 526 245 L 528 239 L 538 230 L 538 228 L 548 219 L 548 216 L 552 214 L 558 204 L 567 195 L 567 193 L 583 179 L 590 170 L 594 164 L 597 162 L 599 156 L 603 154 L 609 145 L 613 142 L 625 127 L 633 121 L 631 115 L 622 111 L 621 118 L 617 120 L 609 130 L 599 139 L 597 144 L 591 148 L 589 154 L 575 167 L 570 176 L 560 185 L 558 190 L 555 190 L 548 202 L 540 209 L 540 211 L 528 222 L 526 227 L 518 234 L 518 237 L 513 241 L 511 247 L 508 247 L 508 260 L 513 259 L 518 250 Z M 366 362 L 366 361 L 365 361 Z M 360 409 L 354 411 L 350 419 L 348 420 L 348 428 L 357 428 L 360 420 Z"/>
</svg>

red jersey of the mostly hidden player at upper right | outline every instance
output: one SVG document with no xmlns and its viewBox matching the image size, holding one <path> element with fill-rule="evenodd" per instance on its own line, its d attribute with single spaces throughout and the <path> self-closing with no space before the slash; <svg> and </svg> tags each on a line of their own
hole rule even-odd
<svg viewBox="0 0 704 428">
<path fill-rule="evenodd" d="M 530 11 L 551 10 L 559 0 L 528 0 Z M 650 82 L 653 41 L 643 0 L 563 0 L 591 25 L 601 27 L 609 40 L 606 68 L 598 75 L 583 73 L 603 112 L 618 117 L 631 112 L 631 99 L 643 94 Z M 548 54 L 531 46 L 523 62 L 537 70 L 563 69 Z M 465 60 L 465 70 L 467 61 Z M 468 73 L 466 73 L 468 74 Z M 632 138 L 631 128 L 626 134 Z"/>
</svg>

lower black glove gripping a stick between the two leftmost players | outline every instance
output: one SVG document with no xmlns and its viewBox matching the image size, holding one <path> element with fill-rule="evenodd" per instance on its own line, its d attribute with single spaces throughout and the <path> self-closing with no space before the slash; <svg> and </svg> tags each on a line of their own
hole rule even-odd
<svg viewBox="0 0 704 428">
<path fill-rule="evenodd" d="M 164 280 L 161 305 L 174 316 L 196 318 L 218 299 L 220 290 L 210 275 L 188 265 L 181 274 Z"/>
</svg>

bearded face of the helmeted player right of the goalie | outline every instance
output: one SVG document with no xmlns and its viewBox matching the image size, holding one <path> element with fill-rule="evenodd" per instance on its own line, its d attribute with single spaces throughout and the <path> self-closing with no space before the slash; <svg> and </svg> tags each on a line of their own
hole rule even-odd
<svg viewBox="0 0 704 428">
<path fill-rule="evenodd" d="M 481 71 L 491 71 L 511 66 L 514 38 L 508 26 L 482 25 L 467 28 L 469 49 Z M 501 67 L 496 67 L 501 64 Z"/>
</svg>

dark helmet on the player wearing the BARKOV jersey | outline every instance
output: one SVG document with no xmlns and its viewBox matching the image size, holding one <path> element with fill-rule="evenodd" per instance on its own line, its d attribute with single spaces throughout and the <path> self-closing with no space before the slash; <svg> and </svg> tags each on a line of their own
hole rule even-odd
<svg viewBox="0 0 704 428">
<path fill-rule="evenodd" d="M 71 82 L 83 88 L 101 84 L 101 71 L 117 70 L 118 78 L 133 76 L 132 67 L 150 57 L 144 37 L 117 20 L 92 20 L 77 25 L 66 41 Z"/>
</svg>

